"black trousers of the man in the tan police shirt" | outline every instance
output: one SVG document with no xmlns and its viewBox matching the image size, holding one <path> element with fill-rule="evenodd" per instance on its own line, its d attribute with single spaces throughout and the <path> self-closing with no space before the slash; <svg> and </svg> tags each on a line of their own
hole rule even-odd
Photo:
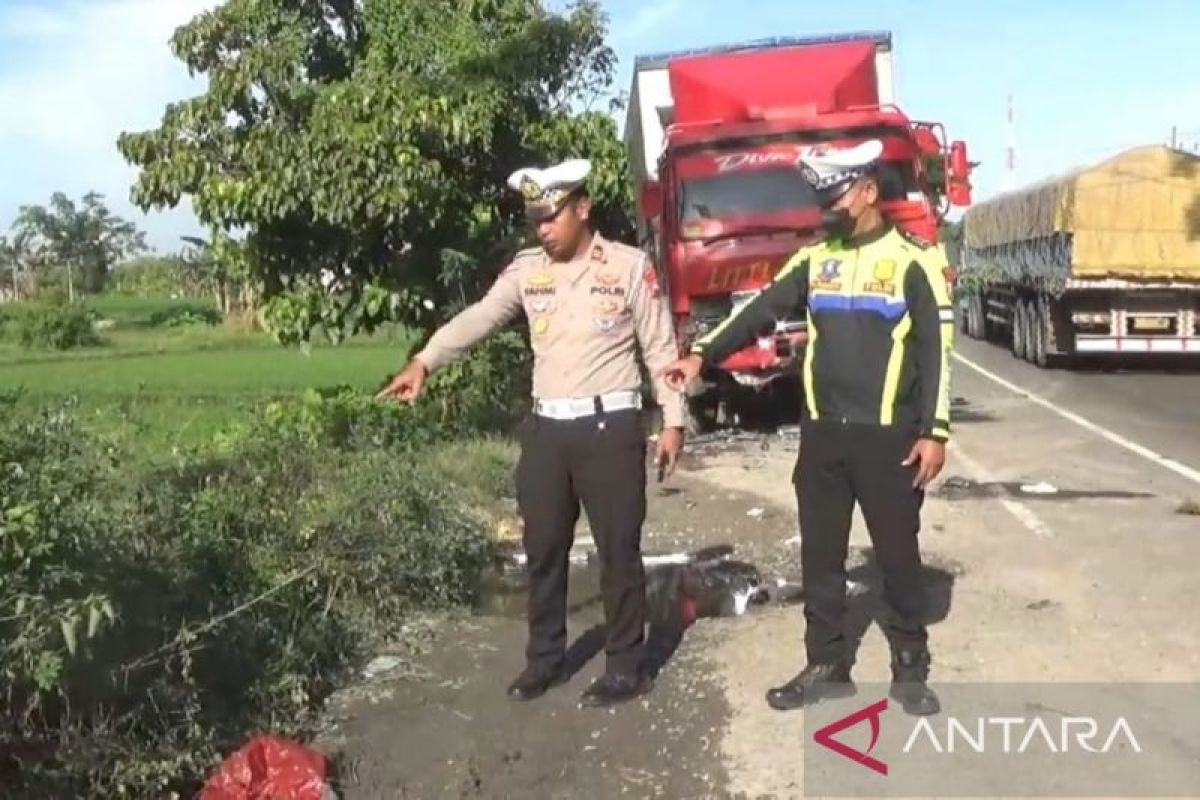
<svg viewBox="0 0 1200 800">
<path fill-rule="evenodd" d="M 566 649 L 568 557 L 580 504 L 600 558 L 610 673 L 642 667 L 646 573 L 646 438 L 641 411 L 580 420 L 530 417 L 521 435 L 517 503 L 529 566 L 529 644 L 534 667 L 558 666 Z"/>
</svg>

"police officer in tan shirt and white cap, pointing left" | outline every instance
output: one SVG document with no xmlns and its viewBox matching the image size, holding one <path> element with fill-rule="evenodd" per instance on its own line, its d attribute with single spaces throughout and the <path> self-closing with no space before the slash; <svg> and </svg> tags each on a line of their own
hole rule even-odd
<svg viewBox="0 0 1200 800">
<path fill-rule="evenodd" d="M 641 251 L 592 229 L 589 172 L 589 162 L 572 160 L 509 178 L 524 196 L 541 247 L 518 253 L 486 296 L 438 330 L 380 396 L 412 402 L 430 373 L 518 313 L 528 318 L 534 408 L 521 435 L 517 501 L 529 569 L 529 642 L 526 668 L 509 694 L 533 699 L 566 679 L 568 555 L 582 503 L 600 557 L 608 630 L 605 675 L 582 699 L 599 706 L 642 694 L 652 682 L 642 668 L 646 440 L 638 345 L 655 375 L 664 417 L 656 461 L 667 471 L 683 446 L 683 396 L 661 377 L 678 347 L 654 265 Z"/>
</svg>

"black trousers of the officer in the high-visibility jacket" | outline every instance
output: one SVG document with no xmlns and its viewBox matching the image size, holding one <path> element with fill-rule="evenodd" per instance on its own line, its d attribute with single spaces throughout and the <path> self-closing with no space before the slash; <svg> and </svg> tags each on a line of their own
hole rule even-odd
<svg viewBox="0 0 1200 800">
<path fill-rule="evenodd" d="M 846 558 L 857 501 L 883 573 L 882 627 L 893 649 L 924 649 L 925 591 L 917 534 L 924 492 L 904 467 L 917 433 L 907 428 L 808 421 L 793 482 L 804 572 L 809 663 L 852 661 L 846 618 Z"/>
</svg>

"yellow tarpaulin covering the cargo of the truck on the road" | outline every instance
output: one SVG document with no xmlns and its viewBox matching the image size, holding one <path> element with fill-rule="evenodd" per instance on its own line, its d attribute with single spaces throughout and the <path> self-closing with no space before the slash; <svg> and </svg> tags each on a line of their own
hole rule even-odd
<svg viewBox="0 0 1200 800">
<path fill-rule="evenodd" d="M 1055 234 L 1070 235 L 1076 277 L 1200 278 L 1200 157 L 1127 150 L 964 215 L 964 241 L 976 249 Z"/>
</svg>

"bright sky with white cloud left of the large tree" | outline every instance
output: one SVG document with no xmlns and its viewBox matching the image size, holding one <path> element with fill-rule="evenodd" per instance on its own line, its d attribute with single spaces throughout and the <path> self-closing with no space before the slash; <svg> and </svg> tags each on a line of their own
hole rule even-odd
<svg viewBox="0 0 1200 800">
<path fill-rule="evenodd" d="M 20 204 L 88 190 L 136 219 L 151 243 L 178 246 L 190 210 L 144 216 L 128 203 L 136 170 L 124 131 L 155 127 L 167 103 L 202 86 L 175 60 L 175 29 L 217 0 L 37 0 L 0 7 L 0 227 Z"/>
</svg>

